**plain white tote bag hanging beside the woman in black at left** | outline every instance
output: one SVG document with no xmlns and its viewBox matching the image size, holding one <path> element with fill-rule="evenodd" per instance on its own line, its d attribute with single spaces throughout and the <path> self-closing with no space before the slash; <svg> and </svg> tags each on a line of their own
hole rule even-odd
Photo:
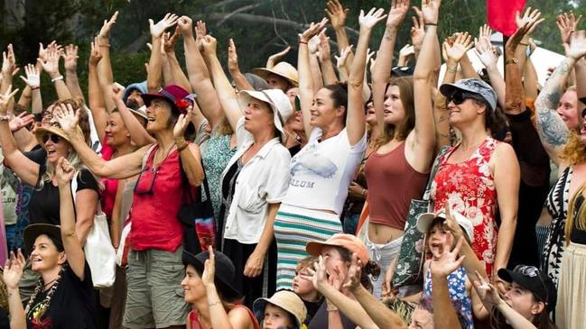
<svg viewBox="0 0 586 329">
<path fill-rule="evenodd" d="M 71 179 L 71 193 L 75 203 L 78 190 L 77 176 Z M 84 246 L 86 261 L 91 271 L 91 280 L 94 288 L 107 288 L 114 285 L 116 279 L 116 251 L 110 240 L 110 231 L 107 227 L 106 214 L 98 203 L 98 211 L 94 215 L 94 224 L 88 233 Z"/>
</svg>

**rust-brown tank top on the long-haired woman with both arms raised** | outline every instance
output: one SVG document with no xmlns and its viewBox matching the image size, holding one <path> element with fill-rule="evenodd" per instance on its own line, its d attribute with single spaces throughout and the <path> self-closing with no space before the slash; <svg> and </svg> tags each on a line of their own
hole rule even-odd
<svg viewBox="0 0 586 329">
<path fill-rule="evenodd" d="M 405 142 L 384 154 L 373 152 L 364 168 L 370 223 L 405 228 L 412 199 L 423 194 L 428 174 L 417 172 L 405 159 Z"/>
</svg>

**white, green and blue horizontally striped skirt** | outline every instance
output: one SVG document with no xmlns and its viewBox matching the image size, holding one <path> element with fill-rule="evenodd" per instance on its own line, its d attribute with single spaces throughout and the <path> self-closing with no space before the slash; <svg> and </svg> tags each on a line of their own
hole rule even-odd
<svg viewBox="0 0 586 329">
<path fill-rule="evenodd" d="M 282 204 L 274 219 L 276 289 L 292 288 L 297 262 L 309 256 L 307 242 L 326 241 L 335 233 L 342 233 L 338 215 Z"/>
</svg>

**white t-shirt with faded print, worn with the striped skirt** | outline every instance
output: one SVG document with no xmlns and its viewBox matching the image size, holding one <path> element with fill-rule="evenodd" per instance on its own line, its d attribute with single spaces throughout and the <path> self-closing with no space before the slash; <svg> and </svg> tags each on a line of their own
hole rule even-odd
<svg viewBox="0 0 586 329">
<path fill-rule="evenodd" d="M 283 203 L 340 215 L 350 181 L 367 149 L 367 134 L 350 146 L 346 128 L 319 142 L 321 133 L 320 128 L 313 128 L 307 145 L 291 160 L 289 190 Z"/>
</svg>

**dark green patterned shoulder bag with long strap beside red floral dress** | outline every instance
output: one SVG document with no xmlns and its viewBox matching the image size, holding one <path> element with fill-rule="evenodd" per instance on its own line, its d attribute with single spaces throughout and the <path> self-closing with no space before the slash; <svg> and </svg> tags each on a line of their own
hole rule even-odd
<svg viewBox="0 0 586 329">
<path fill-rule="evenodd" d="M 433 160 L 432 171 L 430 172 L 427 186 L 423 192 L 422 200 L 411 200 L 407 219 L 405 221 L 405 233 L 401 250 L 396 260 L 396 267 L 393 273 L 393 287 L 400 288 L 411 285 L 423 284 L 423 261 L 425 260 L 425 239 L 424 234 L 417 230 L 417 218 L 419 215 L 429 213 L 432 210 L 430 201 L 433 178 L 440 168 L 440 160 L 443 154 L 448 151 L 449 146 L 443 146 Z"/>
</svg>

